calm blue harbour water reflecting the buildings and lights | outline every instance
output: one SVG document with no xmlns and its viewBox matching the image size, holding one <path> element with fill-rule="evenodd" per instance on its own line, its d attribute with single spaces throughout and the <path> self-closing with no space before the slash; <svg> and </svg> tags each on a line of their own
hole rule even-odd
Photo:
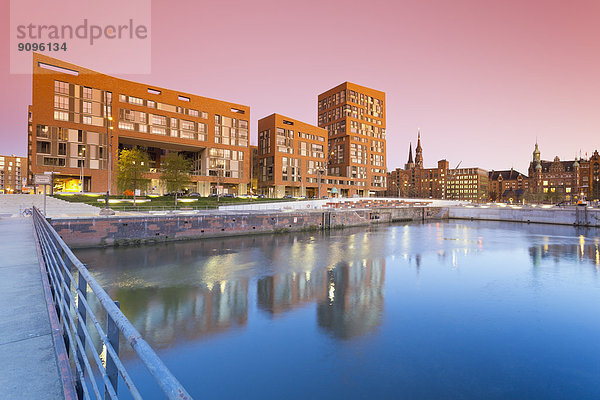
<svg viewBox="0 0 600 400">
<path fill-rule="evenodd" d="M 195 398 L 600 398 L 599 230 L 444 222 L 77 256 Z"/>
</svg>

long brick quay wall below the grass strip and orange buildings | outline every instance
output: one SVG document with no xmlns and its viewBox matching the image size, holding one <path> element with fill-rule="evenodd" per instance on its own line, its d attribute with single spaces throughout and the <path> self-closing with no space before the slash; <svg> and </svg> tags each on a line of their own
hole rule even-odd
<svg viewBox="0 0 600 400">
<path fill-rule="evenodd" d="M 125 246 L 206 237 L 337 229 L 392 221 L 447 218 L 448 209 L 340 209 L 289 212 L 204 212 L 130 217 L 56 218 L 50 223 L 71 247 Z"/>
</svg>

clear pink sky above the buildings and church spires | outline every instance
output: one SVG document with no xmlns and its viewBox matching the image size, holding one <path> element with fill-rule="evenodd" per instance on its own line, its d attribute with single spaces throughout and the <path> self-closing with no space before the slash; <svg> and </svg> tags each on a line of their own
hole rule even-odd
<svg viewBox="0 0 600 400">
<path fill-rule="evenodd" d="M 31 77 L 1 42 L 0 154 L 26 155 Z M 600 150 L 600 2 L 153 1 L 152 73 L 120 75 L 316 124 L 343 81 L 387 96 L 388 169 L 421 128 L 425 166 L 527 173 L 542 158 Z M 86 60 L 71 60 L 86 66 Z M 100 71 L 102 72 L 102 71 Z"/>
</svg>

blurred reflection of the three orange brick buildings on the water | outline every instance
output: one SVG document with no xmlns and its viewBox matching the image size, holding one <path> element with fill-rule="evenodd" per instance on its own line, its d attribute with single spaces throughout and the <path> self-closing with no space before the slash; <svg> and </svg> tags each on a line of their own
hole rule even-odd
<svg viewBox="0 0 600 400">
<path fill-rule="evenodd" d="M 319 326 L 351 338 L 381 320 L 386 244 L 370 235 L 368 229 L 347 229 L 77 255 L 156 348 L 243 328 L 254 281 L 259 310 L 277 316 L 312 304 Z"/>
</svg>

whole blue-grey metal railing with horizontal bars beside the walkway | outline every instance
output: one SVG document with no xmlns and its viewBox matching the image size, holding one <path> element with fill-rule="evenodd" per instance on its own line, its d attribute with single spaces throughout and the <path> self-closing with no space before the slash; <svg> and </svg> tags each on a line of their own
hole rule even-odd
<svg viewBox="0 0 600 400">
<path fill-rule="evenodd" d="M 121 312 L 118 302 L 110 298 L 36 207 L 33 208 L 33 222 L 74 372 L 77 397 L 117 399 L 120 377 L 131 397 L 142 398 L 119 358 L 119 339 L 123 335 L 166 398 L 191 399 Z M 105 315 L 97 316 L 93 312 L 89 295 L 95 296 Z M 101 324 L 104 318 L 106 328 Z M 88 330 L 88 325 L 95 329 Z"/>
</svg>

